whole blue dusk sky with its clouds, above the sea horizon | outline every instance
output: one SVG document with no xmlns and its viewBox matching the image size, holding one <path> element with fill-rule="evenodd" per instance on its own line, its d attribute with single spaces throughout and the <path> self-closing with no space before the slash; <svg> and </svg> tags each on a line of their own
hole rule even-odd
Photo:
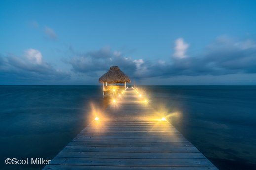
<svg viewBox="0 0 256 170">
<path fill-rule="evenodd" d="M 0 85 L 256 85 L 254 0 L 1 0 Z"/>
</svg>

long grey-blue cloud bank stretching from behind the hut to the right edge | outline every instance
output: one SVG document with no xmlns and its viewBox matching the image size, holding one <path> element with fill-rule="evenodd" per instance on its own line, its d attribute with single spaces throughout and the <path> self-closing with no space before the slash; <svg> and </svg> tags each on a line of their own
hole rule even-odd
<svg viewBox="0 0 256 170">
<path fill-rule="evenodd" d="M 251 39 L 235 41 L 219 37 L 196 56 L 186 55 L 189 46 L 182 38 L 177 39 L 174 54 L 166 61 L 145 62 L 123 57 L 122 52 L 112 52 L 110 47 L 104 47 L 85 54 L 73 53 L 76 57 L 69 63 L 73 72 L 89 76 L 96 76 L 97 71 L 107 71 L 112 65 L 129 72 L 131 78 L 256 73 L 256 42 Z"/>
</svg>

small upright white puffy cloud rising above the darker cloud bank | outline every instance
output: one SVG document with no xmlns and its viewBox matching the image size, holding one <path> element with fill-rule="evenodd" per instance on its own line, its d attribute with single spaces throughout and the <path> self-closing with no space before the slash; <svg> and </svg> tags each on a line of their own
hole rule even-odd
<svg viewBox="0 0 256 170">
<path fill-rule="evenodd" d="M 189 44 L 186 44 L 182 38 L 178 38 L 175 41 L 175 53 L 173 54 L 174 58 L 185 58 L 187 57 L 185 55 L 187 48 L 189 47 Z"/>
</svg>

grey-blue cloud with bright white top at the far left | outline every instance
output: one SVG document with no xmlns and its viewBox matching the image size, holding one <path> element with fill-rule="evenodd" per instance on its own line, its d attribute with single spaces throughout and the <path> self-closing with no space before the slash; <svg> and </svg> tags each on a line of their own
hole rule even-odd
<svg viewBox="0 0 256 170">
<path fill-rule="evenodd" d="M 5 73 L 29 79 L 62 80 L 70 78 L 68 72 L 55 69 L 52 65 L 52 63 L 45 61 L 41 52 L 36 49 L 28 49 L 24 51 L 22 56 L 10 54 L 5 58 L 0 58 L 1 74 Z"/>
</svg>

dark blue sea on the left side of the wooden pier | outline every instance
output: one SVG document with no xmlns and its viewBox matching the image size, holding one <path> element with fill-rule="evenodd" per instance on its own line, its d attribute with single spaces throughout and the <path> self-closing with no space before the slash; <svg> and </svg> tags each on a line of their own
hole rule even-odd
<svg viewBox="0 0 256 170">
<path fill-rule="evenodd" d="M 0 86 L 0 170 L 6 158 L 54 158 L 103 109 L 101 86 Z"/>
</svg>

